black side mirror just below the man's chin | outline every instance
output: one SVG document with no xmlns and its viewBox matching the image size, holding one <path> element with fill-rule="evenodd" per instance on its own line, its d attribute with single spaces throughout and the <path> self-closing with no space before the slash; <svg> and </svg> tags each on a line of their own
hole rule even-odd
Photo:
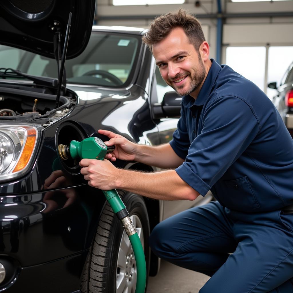
<svg viewBox="0 0 293 293">
<path fill-rule="evenodd" d="M 154 119 L 179 118 L 181 111 L 182 96 L 178 96 L 175 91 L 165 93 L 162 103 L 153 105 Z"/>
</svg>

